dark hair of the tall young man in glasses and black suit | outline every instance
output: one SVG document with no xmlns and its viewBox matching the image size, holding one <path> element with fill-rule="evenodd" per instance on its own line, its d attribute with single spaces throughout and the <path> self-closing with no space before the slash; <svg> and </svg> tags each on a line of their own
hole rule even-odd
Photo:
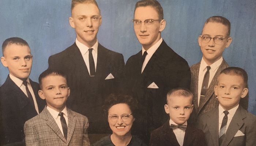
<svg viewBox="0 0 256 146">
<path fill-rule="evenodd" d="M 135 12 L 136 8 L 138 8 L 138 7 L 147 7 L 147 6 L 153 7 L 157 11 L 159 19 L 163 19 L 163 8 L 157 0 L 140 0 L 140 1 L 138 1 L 135 5 L 134 12 Z"/>
</svg>

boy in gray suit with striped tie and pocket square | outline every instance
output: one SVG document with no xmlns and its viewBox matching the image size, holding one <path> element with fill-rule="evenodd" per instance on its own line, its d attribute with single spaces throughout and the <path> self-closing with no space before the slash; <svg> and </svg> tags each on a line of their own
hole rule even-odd
<svg viewBox="0 0 256 146">
<path fill-rule="evenodd" d="M 248 93 L 245 70 L 229 67 L 220 73 L 214 87 L 219 106 L 199 117 L 208 146 L 255 146 L 256 116 L 244 110 L 240 99 Z"/>
</svg>

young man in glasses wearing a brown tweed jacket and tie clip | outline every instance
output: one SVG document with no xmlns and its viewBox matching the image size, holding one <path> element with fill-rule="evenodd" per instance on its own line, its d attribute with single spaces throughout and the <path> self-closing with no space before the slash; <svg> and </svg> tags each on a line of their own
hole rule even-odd
<svg viewBox="0 0 256 146">
<path fill-rule="evenodd" d="M 191 114 L 189 123 L 195 124 L 200 114 L 218 106 L 214 86 L 217 84 L 219 73 L 229 66 L 223 59 L 222 53 L 231 42 L 229 20 L 222 16 L 212 16 L 206 20 L 202 35 L 198 37 L 203 57 L 200 62 L 190 68 L 195 110 Z M 247 110 L 248 96 L 241 100 L 241 105 Z"/>
</svg>

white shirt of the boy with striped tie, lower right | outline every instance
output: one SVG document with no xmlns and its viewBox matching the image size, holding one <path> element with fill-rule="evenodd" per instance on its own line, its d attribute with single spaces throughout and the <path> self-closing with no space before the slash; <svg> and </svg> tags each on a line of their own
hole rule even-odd
<svg viewBox="0 0 256 146">
<path fill-rule="evenodd" d="M 234 108 L 228 110 L 229 114 L 227 114 L 227 126 L 226 126 L 226 131 L 227 131 L 227 128 L 229 127 L 229 124 L 230 124 L 230 122 L 231 122 L 231 120 L 232 120 L 234 114 L 236 113 L 238 107 L 239 107 L 239 104 L 238 104 L 236 107 L 234 107 Z M 224 118 L 224 116 L 225 116 L 225 114 L 223 113 L 223 111 L 225 111 L 225 110 L 224 110 L 223 107 L 219 104 L 219 130 L 221 130 L 222 120 L 223 120 L 223 118 Z M 226 131 L 225 131 L 225 133 L 226 133 Z"/>
</svg>

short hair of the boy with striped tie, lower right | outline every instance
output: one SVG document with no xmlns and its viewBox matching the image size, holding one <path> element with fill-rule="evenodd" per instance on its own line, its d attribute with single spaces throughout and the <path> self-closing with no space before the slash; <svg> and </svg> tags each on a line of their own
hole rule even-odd
<svg viewBox="0 0 256 146">
<path fill-rule="evenodd" d="M 248 75 L 244 69 L 238 68 L 238 67 L 228 67 L 223 69 L 219 75 L 221 74 L 228 74 L 232 76 L 242 77 L 244 79 L 244 87 L 248 88 Z M 218 79 L 218 82 L 219 82 L 219 79 Z"/>
</svg>

